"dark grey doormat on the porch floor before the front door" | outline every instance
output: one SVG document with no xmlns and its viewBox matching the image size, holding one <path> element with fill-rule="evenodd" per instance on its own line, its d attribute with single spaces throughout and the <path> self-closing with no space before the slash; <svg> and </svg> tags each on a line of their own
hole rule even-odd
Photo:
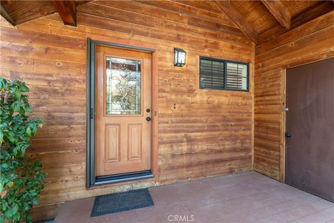
<svg viewBox="0 0 334 223">
<path fill-rule="evenodd" d="M 90 217 L 154 206 L 148 189 L 130 190 L 95 197 Z"/>
</svg>

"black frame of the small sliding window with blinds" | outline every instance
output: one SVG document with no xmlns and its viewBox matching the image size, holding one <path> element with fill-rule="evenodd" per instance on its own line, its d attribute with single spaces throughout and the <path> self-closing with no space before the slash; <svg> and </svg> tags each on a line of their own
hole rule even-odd
<svg viewBox="0 0 334 223">
<path fill-rule="evenodd" d="M 201 77 L 201 69 L 200 69 L 200 61 L 202 59 L 205 60 L 209 60 L 209 61 L 217 61 L 217 62 L 223 62 L 224 63 L 224 86 L 221 89 L 213 89 L 213 88 L 206 88 L 206 87 L 202 87 L 200 86 L 200 77 Z M 247 89 L 228 89 L 227 88 L 227 73 L 228 73 L 228 63 L 238 63 L 238 64 L 242 64 L 242 65 L 246 65 L 247 66 Z M 217 58 L 212 58 L 212 57 L 208 57 L 208 56 L 200 56 L 200 60 L 199 60 L 199 79 L 198 79 L 198 85 L 199 85 L 199 89 L 204 89 L 204 90 L 218 90 L 218 91 L 244 91 L 244 92 L 249 92 L 249 79 L 250 79 L 250 75 L 249 75 L 249 63 L 246 62 L 240 62 L 240 61 L 230 61 L 230 60 L 225 60 L 225 59 L 217 59 Z"/>
</svg>

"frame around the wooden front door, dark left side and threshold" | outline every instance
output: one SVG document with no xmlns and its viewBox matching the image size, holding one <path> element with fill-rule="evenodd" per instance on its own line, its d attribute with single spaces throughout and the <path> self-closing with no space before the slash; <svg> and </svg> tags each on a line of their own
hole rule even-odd
<svg viewBox="0 0 334 223">
<path fill-rule="evenodd" d="M 90 188 L 97 185 L 106 185 L 111 183 L 121 183 L 130 180 L 142 180 L 145 178 L 154 178 L 157 176 L 157 88 L 152 88 L 152 169 L 128 174 L 117 174 L 113 176 L 95 176 L 95 45 L 109 45 L 113 47 L 122 47 L 135 49 L 152 53 L 152 86 L 157 86 L 157 73 L 154 67 L 157 66 L 157 47 L 141 47 L 125 45 L 122 43 L 111 43 L 87 38 L 87 107 L 86 107 L 86 187 Z"/>
</svg>

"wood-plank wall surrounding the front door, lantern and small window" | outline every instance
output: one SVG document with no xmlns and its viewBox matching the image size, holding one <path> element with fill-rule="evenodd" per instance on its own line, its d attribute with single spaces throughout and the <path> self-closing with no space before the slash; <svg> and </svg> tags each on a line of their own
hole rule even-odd
<svg viewBox="0 0 334 223">
<path fill-rule="evenodd" d="M 29 85 L 33 116 L 45 121 L 28 153 L 48 173 L 35 219 L 67 200 L 252 169 L 255 46 L 212 3 L 185 3 L 95 1 L 79 6 L 77 27 L 58 14 L 17 28 L 1 20 L 1 76 Z M 157 182 L 86 190 L 88 33 L 159 46 Z M 186 66 L 173 66 L 173 47 L 186 50 Z M 199 90 L 198 56 L 249 62 L 250 92 Z"/>
</svg>

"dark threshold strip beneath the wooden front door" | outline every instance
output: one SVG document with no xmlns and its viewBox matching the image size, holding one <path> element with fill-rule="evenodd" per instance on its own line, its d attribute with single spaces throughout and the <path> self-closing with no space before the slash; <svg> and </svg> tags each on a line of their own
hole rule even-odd
<svg viewBox="0 0 334 223">
<path fill-rule="evenodd" d="M 97 176 L 95 177 L 95 185 L 105 185 L 112 183 L 122 183 L 132 180 L 143 180 L 148 178 L 154 178 L 152 171 L 141 171 L 127 174 L 115 174 L 110 176 Z"/>
</svg>

